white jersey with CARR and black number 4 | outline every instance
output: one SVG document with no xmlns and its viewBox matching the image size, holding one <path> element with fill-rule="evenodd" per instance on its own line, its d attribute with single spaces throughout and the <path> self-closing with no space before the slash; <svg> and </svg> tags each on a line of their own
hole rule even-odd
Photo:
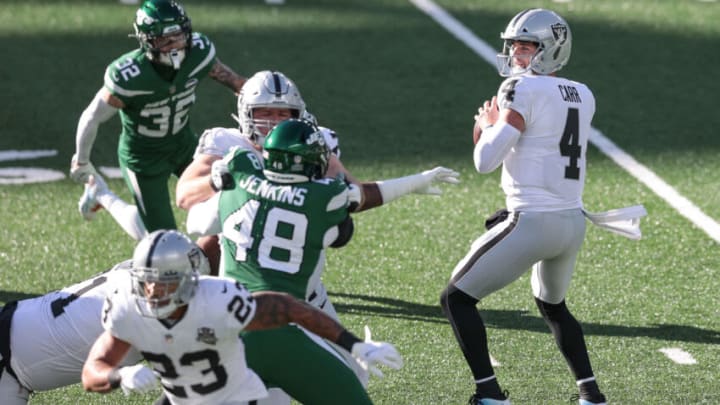
<svg viewBox="0 0 720 405">
<path fill-rule="evenodd" d="M 497 96 L 500 108 L 513 109 L 525 119 L 525 131 L 503 160 L 507 208 L 581 208 L 595 114 L 590 89 L 564 78 L 525 75 L 506 79 Z"/>
</svg>

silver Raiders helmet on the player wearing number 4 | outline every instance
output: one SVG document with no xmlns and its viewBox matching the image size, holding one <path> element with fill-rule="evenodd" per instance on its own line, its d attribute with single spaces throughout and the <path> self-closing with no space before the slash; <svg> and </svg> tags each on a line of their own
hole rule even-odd
<svg viewBox="0 0 720 405">
<path fill-rule="evenodd" d="M 555 12 L 541 8 L 518 13 L 505 31 L 500 33 L 505 42 L 502 53 L 497 56 L 500 76 L 515 76 L 527 71 L 548 75 L 562 69 L 570 59 L 572 34 L 567 22 Z M 535 55 L 527 68 L 513 65 L 513 41 L 529 41 L 538 44 Z"/>
</svg>

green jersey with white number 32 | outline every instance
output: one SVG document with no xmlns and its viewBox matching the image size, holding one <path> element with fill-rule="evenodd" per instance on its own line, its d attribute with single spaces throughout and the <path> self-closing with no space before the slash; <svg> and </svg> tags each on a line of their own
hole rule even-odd
<svg viewBox="0 0 720 405">
<path fill-rule="evenodd" d="M 179 154 L 195 148 L 197 135 L 190 127 L 189 113 L 195 104 L 195 89 L 214 63 L 213 43 L 195 32 L 192 47 L 172 80 L 163 77 L 141 49 L 108 66 L 105 87 L 125 104 L 120 110 L 118 144 L 122 165 L 138 173 L 166 172 Z M 166 66 L 158 69 L 172 70 Z"/>
</svg>

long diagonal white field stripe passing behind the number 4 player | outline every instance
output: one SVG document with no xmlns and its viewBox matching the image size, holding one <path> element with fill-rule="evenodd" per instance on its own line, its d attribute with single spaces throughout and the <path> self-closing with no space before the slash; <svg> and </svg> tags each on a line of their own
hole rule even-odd
<svg viewBox="0 0 720 405">
<path fill-rule="evenodd" d="M 448 14 L 432 0 L 409 1 L 430 18 L 437 21 L 438 24 L 448 30 L 455 38 L 475 51 L 478 56 L 495 66 L 497 51 L 490 47 L 485 41 L 478 38 L 472 31 L 462 25 L 461 22 L 456 20 L 455 17 Z M 665 181 L 654 172 L 638 163 L 632 156 L 625 153 L 597 129 L 593 128 L 593 133 L 590 134 L 590 142 L 633 177 L 650 188 L 650 190 L 661 199 L 665 200 L 671 207 L 675 208 L 680 215 L 690 220 L 695 226 L 705 231 L 708 236 L 720 243 L 720 224 L 702 212 L 702 210 L 690 200 L 680 195 L 680 193 L 665 183 Z"/>
</svg>

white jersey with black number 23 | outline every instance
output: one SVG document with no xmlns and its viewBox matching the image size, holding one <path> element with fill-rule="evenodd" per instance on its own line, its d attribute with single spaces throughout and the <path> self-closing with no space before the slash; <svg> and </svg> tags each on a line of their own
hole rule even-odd
<svg viewBox="0 0 720 405">
<path fill-rule="evenodd" d="M 105 304 L 103 326 L 140 351 L 173 404 L 224 404 L 267 396 L 245 362 L 239 332 L 255 316 L 251 293 L 234 280 L 201 276 L 174 324 L 140 315 L 130 288 Z"/>
</svg>

